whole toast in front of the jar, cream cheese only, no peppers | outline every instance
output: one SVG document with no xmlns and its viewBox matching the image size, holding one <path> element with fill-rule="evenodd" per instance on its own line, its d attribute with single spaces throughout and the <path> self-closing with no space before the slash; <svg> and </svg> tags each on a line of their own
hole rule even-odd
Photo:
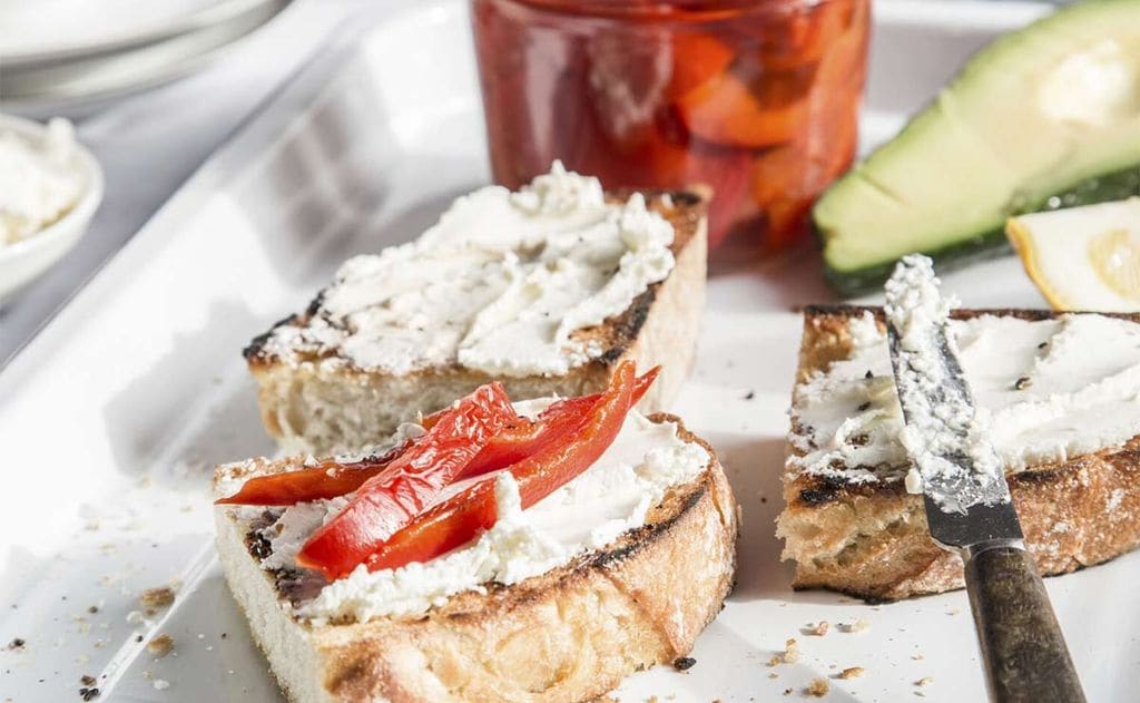
<svg viewBox="0 0 1140 703">
<path fill-rule="evenodd" d="M 464 195 L 418 239 L 350 259 L 245 349 L 269 433 L 327 454 L 491 380 L 511 397 L 605 388 L 626 359 L 684 380 L 705 306 L 708 194 L 610 193 L 555 163 Z"/>
</svg>

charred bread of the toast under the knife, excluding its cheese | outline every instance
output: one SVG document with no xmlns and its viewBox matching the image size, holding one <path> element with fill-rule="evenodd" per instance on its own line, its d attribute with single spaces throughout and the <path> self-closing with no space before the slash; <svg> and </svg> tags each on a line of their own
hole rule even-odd
<svg viewBox="0 0 1140 703">
<path fill-rule="evenodd" d="M 871 310 L 811 307 L 804 312 L 797 393 L 813 375 L 852 352 L 850 323 Z M 1036 310 L 956 310 L 1045 320 Z M 1137 315 L 1109 315 L 1140 322 Z M 793 419 L 795 422 L 795 419 Z M 795 428 L 793 428 L 795 433 Z M 803 455 L 790 443 L 789 455 Z M 1140 437 L 1065 461 L 1031 464 L 1008 476 L 1026 542 L 1042 574 L 1061 574 L 1112 559 L 1140 544 Z M 777 533 L 783 558 L 796 561 L 796 588 L 828 588 L 890 600 L 962 588 L 958 557 L 931 541 L 922 498 L 903 482 L 856 483 L 836 476 L 784 472 L 785 508 Z"/>
</svg>

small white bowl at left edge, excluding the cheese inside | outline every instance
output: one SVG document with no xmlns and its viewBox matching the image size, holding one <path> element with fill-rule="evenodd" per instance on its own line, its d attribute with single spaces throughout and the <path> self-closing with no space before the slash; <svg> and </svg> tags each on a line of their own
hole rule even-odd
<svg viewBox="0 0 1140 703">
<path fill-rule="evenodd" d="M 47 128 L 39 122 L 0 115 L 0 131 L 14 131 L 40 138 Z M 79 145 L 78 168 L 85 171 L 87 189 L 79 202 L 63 217 L 15 244 L 0 245 L 0 300 L 16 292 L 58 261 L 87 232 L 103 200 L 103 169 L 84 147 Z"/>
</svg>

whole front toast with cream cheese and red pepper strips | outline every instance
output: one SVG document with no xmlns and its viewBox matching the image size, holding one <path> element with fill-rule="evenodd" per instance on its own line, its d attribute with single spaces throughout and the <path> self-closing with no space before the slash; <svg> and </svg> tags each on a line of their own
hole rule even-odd
<svg viewBox="0 0 1140 703">
<path fill-rule="evenodd" d="M 332 459 L 219 467 L 218 549 L 290 701 L 587 701 L 686 655 L 735 569 L 711 447 L 634 406 L 660 371 L 488 383 Z"/>
</svg>

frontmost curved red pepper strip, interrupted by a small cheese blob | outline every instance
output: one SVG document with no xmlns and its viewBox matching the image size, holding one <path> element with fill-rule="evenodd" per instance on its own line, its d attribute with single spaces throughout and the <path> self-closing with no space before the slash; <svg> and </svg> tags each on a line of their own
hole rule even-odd
<svg viewBox="0 0 1140 703">
<path fill-rule="evenodd" d="M 519 482 L 523 508 L 580 475 L 613 444 L 633 407 L 634 383 L 634 364 L 625 362 L 614 373 L 609 390 L 579 425 L 559 441 L 507 467 Z M 378 571 L 433 559 L 489 530 L 497 517 L 495 482 L 482 480 L 415 518 L 369 556 L 366 564 L 369 571 Z"/>
</svg>

